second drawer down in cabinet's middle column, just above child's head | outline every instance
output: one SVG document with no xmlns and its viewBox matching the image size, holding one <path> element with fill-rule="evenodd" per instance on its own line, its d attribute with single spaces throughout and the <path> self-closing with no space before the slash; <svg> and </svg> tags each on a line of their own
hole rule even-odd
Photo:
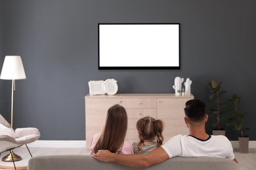
<svg viewBox="0 0 256 170">
<path fill-rule="evenodd" d="M 145 116 L 156 118 L 156 109 L 126 109 L 128 118 L 140 119 Z"/>
</svg>

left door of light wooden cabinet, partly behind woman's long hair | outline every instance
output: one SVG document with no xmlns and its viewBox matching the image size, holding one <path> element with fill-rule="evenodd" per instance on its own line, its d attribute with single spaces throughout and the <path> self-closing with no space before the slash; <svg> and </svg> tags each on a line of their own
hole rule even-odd
<svg viewBox="0 0 256 170">
<path fill-rule="evenodd" d="M 85 99 L 86 146 L 90 148 L 95 133 L 100 133 L 108 109 L 115 104 L 121 105 L 121 99 Z"/>
</svg>

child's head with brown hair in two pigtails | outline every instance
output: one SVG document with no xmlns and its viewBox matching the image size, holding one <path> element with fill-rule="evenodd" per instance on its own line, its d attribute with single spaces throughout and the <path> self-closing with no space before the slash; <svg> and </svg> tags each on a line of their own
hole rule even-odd
<svg viewBox="0 0 256 170">
<path fill-rule="evenodd" d="M 163 143 L 163 121 L 146 116 L 137 121 L 136 127 L 140 139 L 138 144 L 139 150 L 145 141 L 156 141 L 158 146 L 161 146 Z"/>
</svg>

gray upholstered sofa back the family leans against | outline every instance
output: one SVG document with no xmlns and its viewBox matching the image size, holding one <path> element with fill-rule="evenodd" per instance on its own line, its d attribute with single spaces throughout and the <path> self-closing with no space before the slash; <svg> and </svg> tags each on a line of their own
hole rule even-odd
<svg viewBox="0 0 256 170">
<path fill-rule="evenodd" d="M 62 156 L 37 156 L 28 161 L 28 170 L 68 170 L 68 169 L 95 169 L 95 170 L 114 170 L 114 169 L 171 169 L 171 170 L 198 170 L 198 169 L 239 169 L 237 163 L 225 158 L 171 158 L 157 165 L 145 168 L 133 168 L 117 163 L 103 163 L 93 159 L 90 155 L 62 155 Z"/>
</svg>

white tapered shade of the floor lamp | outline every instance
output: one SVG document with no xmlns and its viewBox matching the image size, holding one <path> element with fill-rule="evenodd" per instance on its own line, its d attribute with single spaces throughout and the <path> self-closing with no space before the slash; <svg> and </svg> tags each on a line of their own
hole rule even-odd
<svg viewBox="0 0 256 170">
<path fill-rule="evenodd" d="M 26 79 L 20 56 L 5 56 L 0 78 L 3 80 Z"/>
</svg>

